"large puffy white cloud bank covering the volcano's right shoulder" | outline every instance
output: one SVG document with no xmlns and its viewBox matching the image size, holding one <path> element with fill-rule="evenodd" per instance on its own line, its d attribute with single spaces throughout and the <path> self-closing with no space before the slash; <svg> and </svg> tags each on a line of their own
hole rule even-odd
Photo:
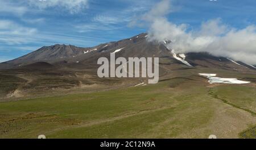
<svg viewBox="0 0 256 150">
<path fill-rule="evenodd" d="M 142 15 L 141 20 L 150 24 L 148 40 L 171 40 L 167 47 L 176 53 L 209 52 L 214 56 L 256 64 L 255 25 L 236 29 L 217 18 L 203 22 L 199 30 L 188 31 L 186 24 L 168 21 L 166 15 L 172 11 L 170 6 L 169 0 L 163 0 Z"/>
</svg>

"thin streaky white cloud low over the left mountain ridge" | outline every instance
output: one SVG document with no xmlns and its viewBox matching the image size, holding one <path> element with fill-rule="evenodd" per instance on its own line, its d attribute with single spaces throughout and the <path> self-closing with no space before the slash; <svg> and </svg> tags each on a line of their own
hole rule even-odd
<svg viewBox="0 0 256 150">
<path fill-rule="evenodd" d="M 98 26 L 94 26 L 96 29 Z M 92 27 L 93 28 L 93 27 Z M 91 29 L 92 29 L 91 28 Z M 81 27 L 82 30 L 82 27 Z M 107 29 L 106 29 L 107 30 Z M 81 45 L 96 45 L 97 40 L 103 38 L 94 36 L 79 36 L 72 34 L 57 34 L 56 32 L 42 32 L 36 28 L 22 26 L 11 20 L 0 19 L 0 51 L 7 50 L 35 50 L 35 47 L 27 47 L 27 44 L 36 45 L 36 47 L 44 45 L 60 44 L 74 44 Z M 106 41 L 107 39 L 104 39 Z"/>
</svg>

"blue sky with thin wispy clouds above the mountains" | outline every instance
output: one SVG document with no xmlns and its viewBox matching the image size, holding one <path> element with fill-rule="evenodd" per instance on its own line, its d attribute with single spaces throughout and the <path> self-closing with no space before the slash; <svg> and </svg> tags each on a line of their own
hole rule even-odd
<svg viewBox="0 0 256 150">
<path fill-rule="evenodd" d="M 0 62 L 44 45 L 93 47 L 147 32 L 147 24 L 129 26 L 156 0 L 0 0 Z M 255 0 L 174 0 L 167 18 L 199 28 L 221 18 L 236 28 L 256 24 Z"/>
</svg>

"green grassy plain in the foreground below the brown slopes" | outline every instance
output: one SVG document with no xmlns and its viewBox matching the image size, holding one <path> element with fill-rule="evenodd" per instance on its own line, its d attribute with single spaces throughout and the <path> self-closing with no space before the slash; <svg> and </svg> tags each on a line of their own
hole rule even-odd
<svg viewBox="0 0 256 150">
<path fill-rule="evenodd" d="M 209 84 L 197 75 L 207 71 L 181 70 L 155 85 L 1 102 L 0 138 L 256 138 L 255 83 Z"/>
</svg>

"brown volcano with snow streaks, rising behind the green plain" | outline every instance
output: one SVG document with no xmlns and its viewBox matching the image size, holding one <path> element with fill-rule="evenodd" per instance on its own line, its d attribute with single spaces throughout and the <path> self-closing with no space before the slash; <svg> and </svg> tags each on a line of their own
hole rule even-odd
<svg viewBox="0 0 256 150">
<path fill-rule="evenodd" d="M 159 57 L 159 80 L 167 80 L 170 77 L 182 77 L 184 70 L 193 76 L 199 73 L 218 73 L 223 70 L 230 72 L 227 78 L 238 78 L 248 82 L 255 82 L 254 78 L 237 76 L 236 74 L 254 74 L 255 66 L 247 65 L 240 61 L 213 56 L 207 52 L 200 53 L 175 53 L 168 49 L 171 41 L 148 41 L 148 34 L 142 33 L 131 38 L 103 43 L 95 47 L 76 47 L 74 45 L 56 44 L 44 46 L 38 50 L 18 57 L 17 59 L 2 62 L 0 73 L 16 80 L 25 80 L 25 85 L 15 83 L 14 89 L 21 93 L 36 91 L 35 95 L 43 94 L 44 90 L 73 89 L 86 87 L 91 90 L 105 90 L 110 87 L 129 87 L 144 83 L 144 78 L 99 78 L 97 69 L 100 65 L 97 60 L 100 57 L 110 59 L 110 53 L 117 57 Z M 201 72 L 200 70 L 214 70 L 213 72 Z M 13 83 L 14 81 L 6 81 Z M 3 84 L 4 86 L 4 84 Z M 3 95 L 10 95 L 13 89 L 3 88 Z M 20 94 L 21 95 L 21 94 Z"/>
</svg>

